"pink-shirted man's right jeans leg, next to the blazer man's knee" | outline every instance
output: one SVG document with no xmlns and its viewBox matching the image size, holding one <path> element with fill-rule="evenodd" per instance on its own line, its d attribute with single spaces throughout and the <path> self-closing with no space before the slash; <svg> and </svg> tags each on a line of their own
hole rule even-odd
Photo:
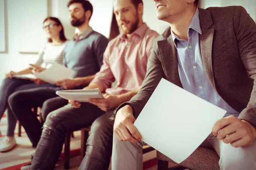
<svg viewBox="0 0 256 170">
<path fill-rule="evenodd" d="M 91 125 L 87 148 L 79 170 L 108 170 L 113 143 L 115 110 L 97 118 Z"/>
</svg>

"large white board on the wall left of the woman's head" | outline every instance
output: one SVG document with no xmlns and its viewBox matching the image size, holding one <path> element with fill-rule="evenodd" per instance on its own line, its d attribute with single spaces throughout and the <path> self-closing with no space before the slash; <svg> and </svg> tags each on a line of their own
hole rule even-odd
<svg viewBox="0 0 256 170">
<path fill-rule="evenodd" d="M 17 46 L 20 53 L 38 53 L 47 42 L 42 29 L 48 14 L 47 0 L 17 0 L 15 3 Z"/>
</svg>

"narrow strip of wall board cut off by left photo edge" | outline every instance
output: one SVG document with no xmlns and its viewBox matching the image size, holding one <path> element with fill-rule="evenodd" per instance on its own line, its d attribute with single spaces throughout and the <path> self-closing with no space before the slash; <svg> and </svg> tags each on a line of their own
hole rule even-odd
<svg viewBox="0 0 256 170">
<path fill-rule="evenodd" d="M 6 51 L 5 4 L 0 0 L 0 52 Z"/>
</svg>

